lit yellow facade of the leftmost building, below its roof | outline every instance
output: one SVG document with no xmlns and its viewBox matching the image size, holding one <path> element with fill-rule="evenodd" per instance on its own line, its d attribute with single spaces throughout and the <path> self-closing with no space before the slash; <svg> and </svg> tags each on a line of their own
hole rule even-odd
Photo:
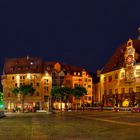
<svg viewBox="0 0 140 140">
<path fill-rule="evenodd" d="M 33 107 L 38 103 L 40 109 L 47 108 L 45 96 L 50 96 L 52 78 L 49 74 L 39 73 L 7 74 L 2 76 L 5 108 L 11 110 L 16 106 L 21 106 L 20 100 L 12 93 L 12 90 L 14 87 L 19 87 L 24 84 L 31 84 L 35 89 L 33 96 L 28 95 L 25 97 L 25 104 Z"/>
</svg>

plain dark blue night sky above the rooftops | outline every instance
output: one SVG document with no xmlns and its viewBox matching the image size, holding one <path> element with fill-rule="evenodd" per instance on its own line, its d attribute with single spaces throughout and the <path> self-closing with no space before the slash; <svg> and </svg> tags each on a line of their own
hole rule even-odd
<svg viewBox="0 0 140 140">
<path fill-rule="evenodd" d="M 0 73 L 6 57 L 27 55 L 94 72 L 137 37 L 139 0 L 46 1 L 0 2 Z"/>
</svg>

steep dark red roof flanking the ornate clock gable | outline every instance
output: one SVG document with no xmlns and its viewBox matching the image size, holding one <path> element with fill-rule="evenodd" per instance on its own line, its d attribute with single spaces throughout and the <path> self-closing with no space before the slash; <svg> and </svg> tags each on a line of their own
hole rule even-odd
<svg viewBox="0 0 140 140">
<path fill-rule="evenodd" d="M 107 73 L 120 69 L 125 66 L 124 52 L 127 46 L 127 42 L 118 47 L 111 57 L 111 59 L 105 64 L 102 73 Z M 135 48 L 136 63 L 140 63 L 140 40 L 133 40 L 133 47 Z"/>
</svg>

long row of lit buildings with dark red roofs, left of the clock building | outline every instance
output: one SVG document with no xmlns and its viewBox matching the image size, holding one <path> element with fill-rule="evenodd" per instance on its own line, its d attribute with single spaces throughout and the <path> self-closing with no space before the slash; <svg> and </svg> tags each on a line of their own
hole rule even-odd
<svg viewBox="0 0 140 140">
<path fill-rule="evenodd" d="M 38 105 L 39 109 L 46 109 L 53 86 L 83 86 L 88 91 L 84 97 L 85 103 L 92 103 L 92 77 L 84 68 L 46 62 L 38 57 L 6 59 L 1 83 L 4 105 L 9 110 L 21 107 L 21 101 L 12 93 L 12 89 L 24 84 L 31 84 L 35 89 L 33 96 L 25 97 L 25 107 Z"/>
</svg>

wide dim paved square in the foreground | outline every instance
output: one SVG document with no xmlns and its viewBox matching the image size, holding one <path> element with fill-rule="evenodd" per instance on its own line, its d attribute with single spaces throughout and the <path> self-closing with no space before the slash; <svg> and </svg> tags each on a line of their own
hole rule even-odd
<svg viewBox="0 0 140 140">
<path fill-rule="evenodd" d="M 7 113 L 0 140 L 139 140 L 140 113 Z"/>
</svg>

